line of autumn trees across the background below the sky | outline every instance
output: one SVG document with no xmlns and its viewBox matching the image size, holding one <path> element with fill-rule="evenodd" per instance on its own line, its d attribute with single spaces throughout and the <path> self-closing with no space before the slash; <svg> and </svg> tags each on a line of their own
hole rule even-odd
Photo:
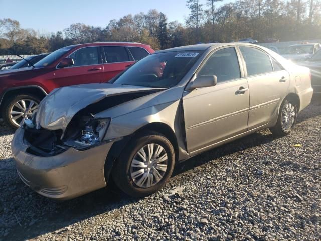
<svg viewBox="0 0 321 241">
<path fill-rule="evenodd" d="M 75 23 L 47 35 L 23 29 L 17 20 L 0 19 L 0 55 L 39 54 L 94 41 L 141 42 L 157 50 L 248 37 L 259 42 L 321 38 L 321 0 L 237 0 L 216 7 L 218 1 L 187 0 L 190 14 L 184 23 L 169 22 L 152 9 L 113 19 L 106 27 Z"/>
</svg>

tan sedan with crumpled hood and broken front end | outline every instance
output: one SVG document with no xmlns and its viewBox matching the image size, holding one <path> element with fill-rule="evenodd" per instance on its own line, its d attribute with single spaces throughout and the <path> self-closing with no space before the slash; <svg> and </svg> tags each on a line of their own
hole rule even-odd
<svg viewBox="0 0 321 241">
<path fill-rule="evenodd" d="M 112 83 L 54 90 L 16 131 L 12 153 L 41 195 L 69 199 L 113 182 L 142 197 L 194 155 L 265 128 L 288 134 L 311 97 L 309 70 L 263 47 L 178 47 Z"/>
</svg>

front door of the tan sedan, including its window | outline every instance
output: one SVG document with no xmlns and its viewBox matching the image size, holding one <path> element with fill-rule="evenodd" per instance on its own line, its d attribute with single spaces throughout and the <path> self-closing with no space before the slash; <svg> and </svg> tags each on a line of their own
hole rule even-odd
<svg viewBox="0 0 321 241">
<path fill-rule="evenodd" d="M 249 90 L 234 47 L 215 51 L 197 76 L 216 75 L 217 85 L 184 92 L 183 108 L 189 153 L 248 129 Z"/>
</svg>

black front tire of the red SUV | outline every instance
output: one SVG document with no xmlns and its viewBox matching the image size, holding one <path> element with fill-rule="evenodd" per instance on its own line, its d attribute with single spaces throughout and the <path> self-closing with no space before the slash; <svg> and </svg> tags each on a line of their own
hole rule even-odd
<svg viewBox="0 0 321 241">
<path fill-rule="evenodd" d="M 21 104 L 22 101 L 24 101 L 25 103 L 25 110 L 22 109 L 24 108 L 24 106 Z M 38 108 L 40 101 L 41 99 L 39 97 L 31 94 L 18 94 L 9 97 L 4 101 L 2 107 L 2 117 L 4 119 L 4 122 L 9 127 L 17 129 L 24 118 L 31 118 L 33 111 Z M 29 104 L 31 104 L 32 102 L 34 104 L 31 106 L 31 109 L 29 110 Z M 16 103 L 20 104 L 15 105 Z M 20 106 L 22 108 L 18 108 L 17 106 Z M 12 111 L 14 111 L 15 114 L 12 114 Z M 18 112 L 24 114 L 20 116 L 20 114 L 17 114 Z M 16 117 L 18 118 L 15 119 Z"/>
</svg>

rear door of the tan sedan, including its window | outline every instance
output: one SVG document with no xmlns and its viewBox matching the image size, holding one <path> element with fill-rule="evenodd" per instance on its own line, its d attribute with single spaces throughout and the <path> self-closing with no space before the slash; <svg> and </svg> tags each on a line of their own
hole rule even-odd
<svg viewBox="0 0 321 241">
<path fill-rule="evenodd" d="M 263 50 L 239 47 L 245 61 L 250 90 L 249 129 L 263 126 L 278 115 L 287 93 L 289 73 Z"/>
</svg>

